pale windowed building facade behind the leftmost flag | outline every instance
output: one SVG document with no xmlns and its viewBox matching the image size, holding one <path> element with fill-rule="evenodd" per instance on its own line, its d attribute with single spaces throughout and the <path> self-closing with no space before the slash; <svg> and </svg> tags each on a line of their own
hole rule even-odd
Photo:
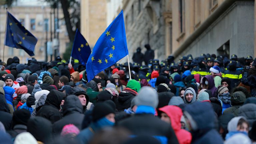
<svg viewBox="0 0 256 144">
<path fill-rule="evenodd" d="M 45 23 L 44 19 L 48 19 L 48 41 L 50 41 L 50 7 L 49 6 L 13 6 L 8 11 L 18 20 L 24 19 L 25 28 L 30 31 L 37 39 L 37 44 L 35 46 L 34 58 L 36 58 L 38 61 L 44 61 L 45 60 L 45 42 L 46 42 L 46 32 L 44 30 Z M 62 18 L 63 14 L 62 11 L 59 11 L 59 18 Z M 53 18 L 53 16 L 52 16 Z M 5 37 L 5 23 L 6 23 L 6 10 L 5 8 L 0 8 L 0 24 L 2 27 L 0 27 L 0 59 L 3 60 L 3 45 L 4 45 L 4 37 Z M 35 19 L 35 30 L 31 30 L 30 28 L 30 20 Z M 52 20 L 52 31 L 54 31 L 54 24 Z M 69 42 L 67 33 L 66 33 L 66 26 L 62 25 L 62 21 L 59 21 L 60 23 L 60 33 L 59 33 L 59 39 L 60 39 L 60 55 L 62 55 L 65 52 L 66 49 L 66 43 Z M 54 37 L 54 36 L 53 36 Z M 27 58 L 30 56 L 22 49 L 16 49 L 11 48 L 8 46 L 5 46 L 4 51 L 4 61 L 6 62 L 8 58 L 12 58 L 14 56 L 19 57 L 21 63 L 26 63 Z M 48 55 L 48 60 L 50 59 L 50 55 Z"/>
</svg>

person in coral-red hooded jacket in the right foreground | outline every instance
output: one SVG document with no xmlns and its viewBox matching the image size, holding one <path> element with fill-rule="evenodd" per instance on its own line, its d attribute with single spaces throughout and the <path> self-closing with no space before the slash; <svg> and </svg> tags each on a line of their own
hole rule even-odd
<svg viewBox="0 0 256 144">
<path fill-rule="evenodd" d="M 190 144 L 192 140 L 191 133 L 181 129 L 181 117 L 183 115 L 182 110 L 177 106 L 164 106 L 159 108 L 158 114 L 161 120 L 171 124 L 179 144 Z"/>
</svg>

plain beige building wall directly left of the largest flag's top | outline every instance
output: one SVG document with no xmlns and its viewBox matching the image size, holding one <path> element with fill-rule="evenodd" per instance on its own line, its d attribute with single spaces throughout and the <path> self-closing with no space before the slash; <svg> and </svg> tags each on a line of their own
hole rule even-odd
<svg viewBox="0 0 256 144">
<path fill-rule="evenodd" d="M 94 47 L 107 28 L 107 0 L 81 0 L 81 33 Z"/>
</svg>

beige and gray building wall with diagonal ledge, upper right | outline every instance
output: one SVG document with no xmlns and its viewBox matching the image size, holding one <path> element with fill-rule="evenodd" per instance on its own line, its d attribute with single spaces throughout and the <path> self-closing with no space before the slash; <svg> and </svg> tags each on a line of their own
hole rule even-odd
<svg viewBox="0 0 256 144">
<path fill-rule="evenodd" d="M 196 37 L 195 31 L 202 28 L 202 25 L 220 7 L 224 1 L 218 0 L 213 7 L 210 7 L 210 0 L 185 0 L 184 33 L 180 32 L 180 0 L 173 0 L 173 54 L 185 44 L 190 43 L 181 53 L 176 55 L 176 59 L 183 55 L 192 54 L 194 57 L 201 53 L 223 54 L 217 49 L 228 46 L 228 55 L 237 54 L 239 57 L 246 57 L 254 53 L 254 2 L 253 1 L 233 1 L 227 9 L 223 11 L 213 23 Z M 199 4 L 198 4 L 199 2 Z M 230 1 L 229 1 L 230 2 Z M 200 7 L 197 8 L 196 6 Z M 199 13 L 198 13 L 199 9 Z M 190 42 L 190 40 L 193 41 Z"/>
</svg>

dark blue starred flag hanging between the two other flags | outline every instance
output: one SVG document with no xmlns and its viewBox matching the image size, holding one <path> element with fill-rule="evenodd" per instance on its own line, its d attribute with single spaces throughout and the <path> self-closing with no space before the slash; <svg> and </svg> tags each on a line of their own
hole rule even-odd
<svg viewBox="0 0 256 144">
<path fill-rule="evenodd" d="M 71 56 L 74 59 L 78 59 L 79 62 L 86 66 L 86 62 L 91 54 L 91 49 L 83 35 L 76 29 L 76 36 L 71 52 Z"/>
</svg>

